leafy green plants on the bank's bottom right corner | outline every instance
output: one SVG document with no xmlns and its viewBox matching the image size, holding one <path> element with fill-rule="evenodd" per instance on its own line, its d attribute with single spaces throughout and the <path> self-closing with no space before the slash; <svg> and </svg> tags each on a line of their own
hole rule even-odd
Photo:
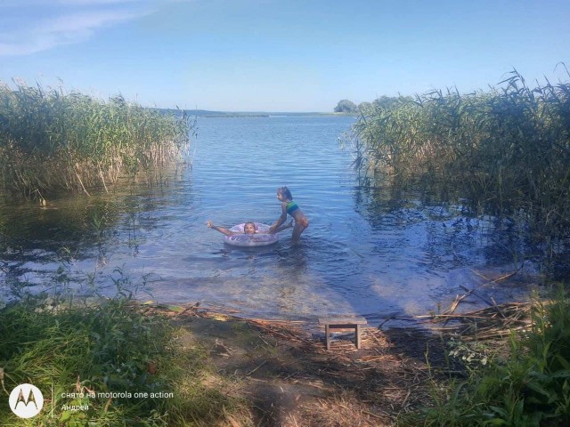
<svg viewBox="0 0 570 427">
<path fill-rule="evenodd" d="M 432 406 L 400 425 L 570 425 L 570 299 L 562 288 L 552 302 L 534 302 L 532 320 L 532 330 L 502 344 L 507 358 L 468 364 L 465 381 L 434 378 Z"/>
</svg>

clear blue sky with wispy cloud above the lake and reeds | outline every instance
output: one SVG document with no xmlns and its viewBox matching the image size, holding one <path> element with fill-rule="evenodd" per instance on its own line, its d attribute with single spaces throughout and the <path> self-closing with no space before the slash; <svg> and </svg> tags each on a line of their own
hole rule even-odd
<svg viewBox="0 0 570 427">
<path fill-rule="evenodd" d="M 331 111 L 570 79 L 570 2 L 2 0 L 0 81 L 161 108 Z"/>
</svg>

